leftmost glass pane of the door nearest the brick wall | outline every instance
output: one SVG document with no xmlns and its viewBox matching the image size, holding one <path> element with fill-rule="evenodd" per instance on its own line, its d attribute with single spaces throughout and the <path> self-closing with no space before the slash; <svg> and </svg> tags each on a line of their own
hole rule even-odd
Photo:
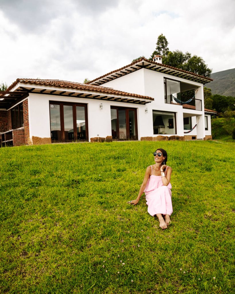
<svg viewBox="0 0 235 294">
<path fill-rule="evenodd" d="M 51 116 L 51 139 L 53 141 L 61 141 L 61 115 L 60 106 L 57 104 L 50 104 Z"/>
</svg>

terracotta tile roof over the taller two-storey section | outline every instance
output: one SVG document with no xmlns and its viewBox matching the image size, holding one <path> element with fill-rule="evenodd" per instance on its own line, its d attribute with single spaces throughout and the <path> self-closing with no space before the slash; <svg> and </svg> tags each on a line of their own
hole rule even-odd
<svg viewBox="0 0 235 294">
<path fill-rule="evenodd" d="M 113 74 L 113 73 L 115 73 L 115 72 L 118 72 L 118 71 L 121 71 L 121 70 L 123 70 L 123 69 L 126 69 L 127 67 L 133 66 L 134 64 L 136 64 L 136 63 L 138 63 L 138 62 L 140 62 L 140 61 L 145 61 L 145 62 L 151 63 L 151 64 L 153 64 L 153 65 L 159 65 L 159 66 L 162 66 L 162 67 L 166 67 L 166 68 L 169 68 L 169 69 L 173 69 L 173 70 L 175 70 L 175 71 L 180 71 L 180 72 L 185 73 L 185 74 L 190 74 L 190 75 L 192 75 L 192 76 L 196 76 L 196 77 L 199 77 L 199 78 L 202 78 L 202 79 L 206 79 L 206 80 L 208 80 L 208 81 L 213 81 L 212 78 L 207 78 L 207 77 L 205 77 L 205 76 L 201 76 L 201 75 L 198 75 L 198 74 L 194 74 L 194 73 L 192 73 L 192 72 L 190 72 L 190 71 L 185 71 L 185 70 L 183 70 L 183 69 L 177 69 L 176 67 L 173 67 L 173 66 L 170 66 L 170 65 L 157 63 L 157 62 L 155 62 L 155 61 L 152 61 L 152 60 L 149 60 L 149 59 L 145 59 L 145 58 L 142 57 L 142 58 L 140 58 L 140 59 L 138 59 L 138 60 L 136 60 L 136 61 L 133 61 L 131 64 L 128 64 L 128 65 L 126 65 L 126 66 L 121 67 L 120 69 L 116 69 L 115 71 L 110 71 L 108 74 L 105 74 L 105 75 L 103 75 L 103 76 L 100 76 L 99 78 L 95 78 L 94 80 L 90 81 L 89 84 L 91 84 L 91 83 L 93 83 L 93 82 L 95 82 L 95 81 L 97 81 L 97 80 L 99 80 L 99 79 L 102 79 L 102 78 L 104 78 L 104 77 L 106 77 L 106 76 L 109 76 L 110 74 Z M 164 73 L 164 72 L 163 72 L 163 73 Z"/>
</svg>

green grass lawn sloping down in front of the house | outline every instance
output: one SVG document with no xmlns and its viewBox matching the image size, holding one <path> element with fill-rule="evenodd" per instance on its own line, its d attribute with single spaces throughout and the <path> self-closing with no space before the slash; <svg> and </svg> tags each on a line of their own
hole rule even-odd
<svg viewBox="0 0 235 294">
<path fill-rule="evenodd" d="M 153 151 L 172 224 L 137 197 Z M 0 148 L 1 293 L 234 293 L 234 143 Z"/>
</svg>

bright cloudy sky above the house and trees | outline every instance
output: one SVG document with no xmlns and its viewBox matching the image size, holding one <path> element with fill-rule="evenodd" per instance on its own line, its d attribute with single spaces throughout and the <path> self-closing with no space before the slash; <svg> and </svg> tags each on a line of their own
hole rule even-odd
<svg viewBox="0 0 235 294">
<path fill-rule="evenodd" d="M 171 51 L 235 68 L 234 0 L 0 0 L 0 83 L 83 82 L 149 58 L 164 34 Z"/>
</svg>

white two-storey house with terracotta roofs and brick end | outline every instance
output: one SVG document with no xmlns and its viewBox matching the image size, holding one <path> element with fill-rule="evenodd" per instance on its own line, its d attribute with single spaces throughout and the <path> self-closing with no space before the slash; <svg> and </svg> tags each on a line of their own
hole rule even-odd
<svg viewBox="0 0 235 294">
<path fill-rule="evenodd" d="M 17 79 L 0 93 L 2 146 L 69 141 L 211 139 L 203 85 L 212 81 L 141 58 L 89 84 Z M 162 137 L 161 137 L 162 138 Z M 178 137 L 177 137 L 178 138 Z"/>
</svg>

